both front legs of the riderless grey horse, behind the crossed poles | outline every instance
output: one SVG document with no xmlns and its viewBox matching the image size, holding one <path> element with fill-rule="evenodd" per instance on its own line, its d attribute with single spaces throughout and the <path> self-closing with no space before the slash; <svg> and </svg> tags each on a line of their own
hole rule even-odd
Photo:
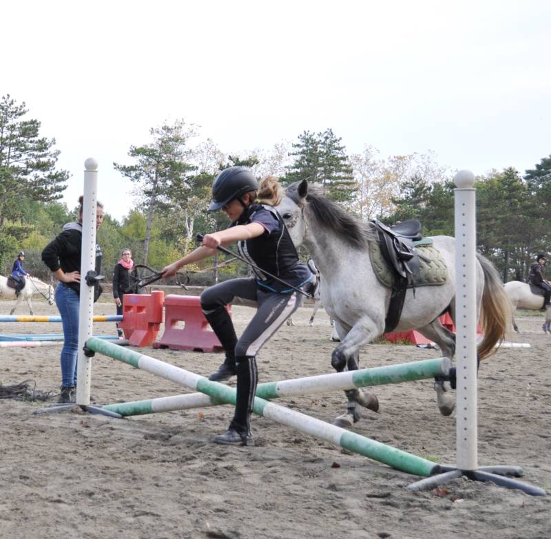
<svg viewBox="0 0 551 539">
<path fill-rule="evenodd" d="M 371 320 L 361 321 L 342 337 L 342 326 L 337 322 L 337 331 L 342 339 L 341 344 L 333 350 L 331 365 L 337 372 L 343 370 L 357 370 L 360 363 L 360 347 L 367 344 L 377 335 L 377 328 Z M 348 399 L 346 413 L 338 416 L 334 424 L 338 427 L 350 428 L 353 423 L 360 420 L 362 416 L 361 406 L 377 412 L 379 401 L 375 394 L 362 389 L 346 390 L 344 392 Z"/>
</svg>

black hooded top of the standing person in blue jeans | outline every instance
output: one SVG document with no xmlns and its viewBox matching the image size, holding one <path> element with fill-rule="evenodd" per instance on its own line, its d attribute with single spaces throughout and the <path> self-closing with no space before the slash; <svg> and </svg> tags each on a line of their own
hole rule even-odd
<svg viewBox="0 0 551 539">
<path fill-rule="evenodd" d="M 42 262 L 55 272 L 61 268 L 63 273 L 81 271 L 82 249 L 82 225 L 80 223 L 67 223 L 63 226 L 63 232 L 44 247 Z M 96 273 L 101 271 L 102 253 L 100 246 L 96 244 Z M 79 283 L 66 283 L 77 294 L 81 291 Z"/>
</svg>

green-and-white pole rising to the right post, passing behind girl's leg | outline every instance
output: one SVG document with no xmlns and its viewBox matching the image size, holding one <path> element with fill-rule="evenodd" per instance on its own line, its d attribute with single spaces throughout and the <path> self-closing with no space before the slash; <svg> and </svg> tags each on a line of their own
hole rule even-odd
<svg viewBox="0 0 551 539">
<path fill-rule="evenodd" d="M 318 376 L 279 382 L 259 383 L 256 388 L 256 396 L 270 400 L 278 397 L 296 397 L 298 395 L 335 390 L 352 390 L 386 383 L 410 382 L 446 376 L 449 374 L 450 367 L 451 361 L 447 357 L 439 357 L 369 369 L 319 374 Z M 208 395 L 192 393 L 143 401 L 107 404 L 103 408 L 121 414 L 121 416 L 136 416 L 173 412 L 174 410 L 190 410 L 191 408 L 207 408 L 208 406 L 220 404 L 222 403 Z"/>
</svg>

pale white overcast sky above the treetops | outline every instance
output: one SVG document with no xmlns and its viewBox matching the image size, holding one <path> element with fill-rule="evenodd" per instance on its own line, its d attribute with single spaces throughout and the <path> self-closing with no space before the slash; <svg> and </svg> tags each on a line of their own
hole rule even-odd
<svg viewBox="0 0 551 539">
<path fill-rule="evenodd" d="M 450 171 L 521 173 L 551 154 L 551 2 L 27 1 L 4 3 L 0 95 L 25 102 L 70 171 L 113 162 L 183 118 L 225 154 L 331 127 L 348 154 L 427 151 Z"/>
</svg>

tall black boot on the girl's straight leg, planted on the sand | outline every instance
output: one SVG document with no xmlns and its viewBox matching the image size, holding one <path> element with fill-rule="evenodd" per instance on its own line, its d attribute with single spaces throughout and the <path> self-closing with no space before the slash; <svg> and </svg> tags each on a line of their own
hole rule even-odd
<svg viewBox="0 0 551 539">
<path fill-rule="evenodd" d="M 214 437 L 215 443 L 224 445 L 254 445 L 251 432 L 251 413 L 258 383 L 255 357 L 240 356 L 236 361 L 237 398 L 236 411 L 224 434 Z"/>
</svg>

